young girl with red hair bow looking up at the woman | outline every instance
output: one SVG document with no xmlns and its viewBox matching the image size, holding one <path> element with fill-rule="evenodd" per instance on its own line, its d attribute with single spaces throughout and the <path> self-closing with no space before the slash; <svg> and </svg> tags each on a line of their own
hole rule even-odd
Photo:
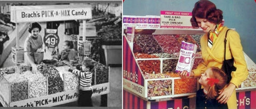
<svg viewBox="0 0 256 109">
<path fill-rule="evenodd" d="M 201 74 L 198 82 L 203 86 L 196 92 L 196 108 L 228 108 L 220 104 L 216 98 L 220 91 L 227 87 L 227 75 L 219 68 L 208 68 Z"/>
</svg>

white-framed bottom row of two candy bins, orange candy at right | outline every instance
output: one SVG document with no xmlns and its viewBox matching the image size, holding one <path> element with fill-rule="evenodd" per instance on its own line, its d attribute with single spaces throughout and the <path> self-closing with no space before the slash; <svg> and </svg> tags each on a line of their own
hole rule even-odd
<svg viewBox="0 0 256 109">
<path fill-rule="evenodd" d="M 199 89 L 197 78 L 181 79 L 164 75 L 165 78 L 146 79 L 148 99 L 190 96 L 195 95 Z"/>
</svg>

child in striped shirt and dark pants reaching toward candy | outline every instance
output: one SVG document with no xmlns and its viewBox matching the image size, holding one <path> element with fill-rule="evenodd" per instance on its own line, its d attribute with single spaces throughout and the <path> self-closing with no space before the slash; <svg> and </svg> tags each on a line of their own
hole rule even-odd
<svg viewBox="0 0 256 109">
<path fill-rule="evenodd" d="M 86 57 L 82 63 L 82 69 L 69 69 L 68 71 L 79 77 L 78 106 L 92 107 L 92 69 L 95 61 Z"/>
</svg>

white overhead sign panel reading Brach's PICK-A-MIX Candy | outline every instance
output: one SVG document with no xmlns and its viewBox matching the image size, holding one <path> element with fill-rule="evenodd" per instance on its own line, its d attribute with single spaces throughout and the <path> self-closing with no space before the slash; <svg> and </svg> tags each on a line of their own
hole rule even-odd
<svg viewBox="0 0 256 109">
<path fill-rule="evenodd" d="M 12 6 L 11 22 L 46 22 L 92 19 L 88 5 Z"/>
</svg>

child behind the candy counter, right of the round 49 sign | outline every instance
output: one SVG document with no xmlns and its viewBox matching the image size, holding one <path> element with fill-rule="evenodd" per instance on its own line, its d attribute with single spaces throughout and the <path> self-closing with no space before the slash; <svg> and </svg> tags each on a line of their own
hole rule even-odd
<svg viewBox="0 0 256 109">
<path fill-rule="evenodd" d="M 63 60 L 75 60 L 77 56 L 77 52 L 75 49 L 73 49 L 73 41 L 65 40 L 63 44 L 63 51 L 59 55 L 53 56 L 53 58 L 56 58 L 57 60 L 63 61 Z"/>
</svg>

